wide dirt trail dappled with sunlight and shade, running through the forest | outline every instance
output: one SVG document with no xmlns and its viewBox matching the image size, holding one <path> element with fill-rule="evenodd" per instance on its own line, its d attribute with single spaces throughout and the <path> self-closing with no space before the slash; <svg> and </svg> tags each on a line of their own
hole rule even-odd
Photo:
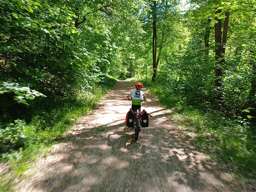
<svg viewBox="0 0 256 192">
<path fill-rule="evenodd" d="M 15 191 L 236 191 L 174 126 L 172 112 L 145 89 L 142 110 L 153 117 L 134 141 L 134 131 L 125 128 L 131 102 L 124 100 L 133 87 L 134 82 L 118 81 Z M 101 126 L 105 131 L 96 131 Z"/>
</svg>

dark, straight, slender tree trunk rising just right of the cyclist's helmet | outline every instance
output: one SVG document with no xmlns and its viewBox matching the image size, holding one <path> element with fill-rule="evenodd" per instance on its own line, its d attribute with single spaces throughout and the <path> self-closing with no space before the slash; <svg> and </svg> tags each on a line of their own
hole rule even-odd
<svg viewBox="0 0 256 192">
<path fill-rule="evenodd" d="M 156 14 L 157 2 L 154 1 L 153 8 L 153 41 L 152 41 L 152 53 L 153 53 L 153 76 L 152 82 L 155 82 L 155 77 L 157 76 L 157 14 Z"/>
</svg>

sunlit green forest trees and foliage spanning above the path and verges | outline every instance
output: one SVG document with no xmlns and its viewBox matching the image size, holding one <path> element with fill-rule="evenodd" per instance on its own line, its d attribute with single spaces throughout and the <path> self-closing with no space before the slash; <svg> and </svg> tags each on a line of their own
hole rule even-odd
<svg viewBox="0 0 256 192">
<path fill-rule="evenodd" d="M 1 113 L 12 98 L 77 96 L 102 74 L 255 108 L 254 0 L 182 2 L 1 0 Z"/>
</svg>

